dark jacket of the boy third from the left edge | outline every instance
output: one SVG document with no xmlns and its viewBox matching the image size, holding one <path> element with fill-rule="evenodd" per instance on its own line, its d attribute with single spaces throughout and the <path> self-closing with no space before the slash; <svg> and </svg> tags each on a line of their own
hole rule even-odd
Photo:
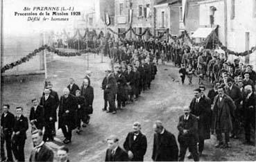
<svg viewBox="0 0 256 162">
<path fill-rule="evenodd" d="M 35 122 L 35 127 L 37 127 L 37 129 L 42 129 L 44 127 L 44 107 L 38 105 L 36 111 L 34 107 L 31 107 L 29 120 L 37 120 Z"/>
</svg>

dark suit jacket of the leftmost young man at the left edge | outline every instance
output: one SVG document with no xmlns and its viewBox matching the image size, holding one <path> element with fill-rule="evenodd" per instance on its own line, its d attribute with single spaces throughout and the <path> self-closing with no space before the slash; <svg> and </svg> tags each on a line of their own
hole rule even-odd
<svg viewBox="0 0 256 162">
<path fill-rule="evenodd" d="M 4 114 L 2 114 L 1 127 L 3 127 L 3 134 L 12 135 L 14 125 L 15 125 L 15 116 L 12 113 L 8 111 L 6 117 L 4 117 Z"/>
</svg>

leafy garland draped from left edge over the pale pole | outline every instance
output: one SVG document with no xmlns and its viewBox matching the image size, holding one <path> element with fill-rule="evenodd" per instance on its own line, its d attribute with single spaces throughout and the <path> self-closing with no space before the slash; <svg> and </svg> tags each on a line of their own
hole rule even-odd
<svg viewBox="0 0 256 162">
<path fill-rule="evenodd" d="M 72 56 L 80 56 L 81 53 L 98 53 L 101 50 L 101 47 L 98 47 L 98 48 L 95 48 L 95 49 L 88 48 L 88 49 L 85 49 L 83 51 L 80 51 L 79 53 L 78 52 L 76 52 L 76 53 L 66 53 L 66 52 L 60 51 L 56 48 L 53 48 L 51 46 L 43 45 L 40 48 L 35 49 L 32 53 L 29 53 L 28 55 L 20 58 L 19 60 L 15 61 L 15 62 L 12 62 L 10 64 L 6 64 L 5 66 L 3 66 L 1 68 L 1 73 L 4 73 L 8 69 L 12 69 L 13 67 L 18 66 L 19 64 L 22 64 L 24 62 L 28 62 L 29 60 L 31 60 L 31 58 L 33 58 L 35 55 L 37 55 L 37 53 L 40 53 L 41 51 L 44 51 L 44 50 L 47 50 L 47 51 L 52 52 L 52 53 L 56 53 L 59 56 L 72 57 Z"/>
</svg>

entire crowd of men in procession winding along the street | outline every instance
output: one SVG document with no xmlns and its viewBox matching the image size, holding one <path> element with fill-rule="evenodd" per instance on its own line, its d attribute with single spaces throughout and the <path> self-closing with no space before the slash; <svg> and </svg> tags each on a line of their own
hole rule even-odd
<svg viewBox="0 0 256 162">
<path fill-rule="evenodd" d="M 107 46 L 107 45 L 106 45 Z M 106 48 L 105 48 L 106 49 Z M 189 148 L 189 158 L 198 161 L 204 149 L 204 141 L 210 134 L 216 134 L 216 147 L 230 147 L 230 138 L 239 138 L 244 129 L 245 144 L 252 144 L 251 129 L 255 131 L 255 81 L 253 66 L 244 65 L 239 60 L 228 62 L 225 53 L 219 50 L 205 50 L 201 47 L 189 47 L 180 40 L 135 42 L 123 41 L 122 44 L 110 42 L 109 51 L 105 51 L 112 59 L 112 69 L 105 71 L 102 82 L 104 107 L 103 111 L 116 114 L 127 104 L 138 100 L 139 95 L 151 89 L 151 82 L 157 73 L 158 60 L 173 62 L 180 67 L 182 84 L 185 78 L 197 75 L 199 88 L 194 90 L 194 99 L 178 123 L 178 142 L 173 134 L 164 129 L 157 121 L 154 125 L 153 161 L 184 161 Z M 214 88 L 205 94 L 203 80 L 209 78 Z M 16 116 L 10 113 L 9 105 L 3 105 L 1 116 L 1 159 L 13 161 L 12 153 L 17 161 L 24 161 L 24 145 L 26 131 L 30 123 L 34 149 L 30 161 L 52 161 L 53 152 L 46 141 L 53 141 L 58 129 L 65 136 L 63 143 L 71 143 L 72 130 L 82 132 L 93 112 L 94 89 L 91 86 L 90 73 L 83 80 L 81 87 L 70 78 L 70 83 L 63 89 L 63 94 L 53 91 L 53 85 L 46 80 L 42 98 L 31 100 L 33 107 L 29 117 L 23 115 L 23 107 L 16 108 Z M 117 105 L 116 105 L 117 101 Z M 58 111 L 57 111 L 58 109 Z M 58 113 L 57 113 L 58 112 Z M 109 149 L 105 161 L 143 161 L 146 152 L 146 136 L 140 132 L 141 124 L 133 125 L 133 132 L 126 138 L 123 151 L 117 136 L 108 138 Z M 42 131 L 44 130 L 44 131 Z M 225 134 L 224 140 L 222 134 Z M 7 159 L 3 150 L 6 143 Z M 171 153 L 170 153 L 171 152 Z M 178 153 L 179 152 L 179 153 Z M 66 147 L 59 150 L 59 158 L 67 161 Z"/>
</svg>

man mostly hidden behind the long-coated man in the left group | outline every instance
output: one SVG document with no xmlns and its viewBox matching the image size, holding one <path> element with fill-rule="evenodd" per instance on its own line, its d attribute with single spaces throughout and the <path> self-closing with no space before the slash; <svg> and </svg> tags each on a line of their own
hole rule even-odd
<svg viewBox="0 0 256 162">
<path fill-rule="evenodd" d="M 54 98 L 55 107 L 54 107 L 54 111 L 53 111 L 53 120 L 51 122 L 50 127 L 51 127 L 51 130 L 52 130 L 51 133 L 53 134 L 53 136 L 56 136 L 55 123 L 57 121 L 57 109 L 58 109 L 58 106 L 60 104 L 60 99 L 59 99 L 58 93 L 56 91 L 53 91 L 53 84 L 48 84 L 47 87 L 51 91 L 50 95 L 53 96 L 53 98 Z"/>
</svg>

